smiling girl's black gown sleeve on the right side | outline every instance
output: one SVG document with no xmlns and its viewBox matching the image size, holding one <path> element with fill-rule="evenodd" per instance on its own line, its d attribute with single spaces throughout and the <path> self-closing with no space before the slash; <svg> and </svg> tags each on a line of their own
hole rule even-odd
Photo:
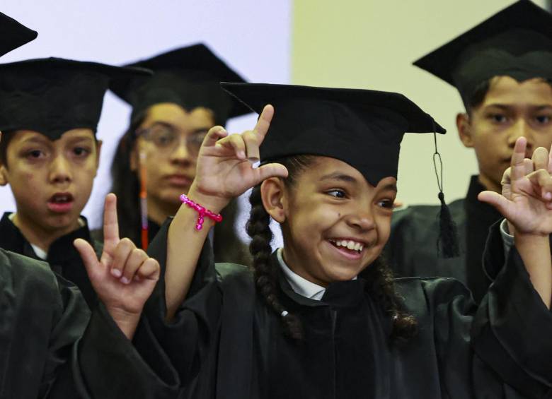
<svg viewBox="0 0 552 399">
<path fill-rule="evenodd" d="M 423 280 L 432 321 L 420 328 L 435 342 L 444 397 L 552 398 L 552 314 L 515 249 L 503 263 L 498 229 L 485 261 L 502 264 L 483 302 L 453 279 Z"/>
</svg>

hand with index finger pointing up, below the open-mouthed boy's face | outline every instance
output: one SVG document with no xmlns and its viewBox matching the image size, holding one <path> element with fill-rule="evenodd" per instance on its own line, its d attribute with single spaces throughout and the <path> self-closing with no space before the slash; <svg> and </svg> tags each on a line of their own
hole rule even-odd
<svg viewBox="0 0 552 399">
<path fill-rule="evenodd" d="M 119 238 L 117 198 L 105 197 L 103 253 L 98 260 L 84 239 L 74 245 L 98 298 L 127 338 L 132 339 L 146 300 L 159 280 L 159 263 L 127 238 Z"/>
</svg>

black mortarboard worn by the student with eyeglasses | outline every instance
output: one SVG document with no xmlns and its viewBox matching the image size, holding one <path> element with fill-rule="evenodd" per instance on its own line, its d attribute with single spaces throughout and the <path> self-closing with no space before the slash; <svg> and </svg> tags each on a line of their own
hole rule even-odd
<svg viewBox="0 0 552 399">
<path fill-rule="evenodd" d="M 135 121 L 151 105 L 172 102 L 185 109 L 212 109 L 217 124 L 250 111 L 224 93 L 219 82 L 244 82 L 243 78 L 205 46 L 194 44 L 150 59 L 127 64 L 154 71 L 151 78 L 136 78 L 113 85 L 113 92 L 132 105 Z"/>
</svg>

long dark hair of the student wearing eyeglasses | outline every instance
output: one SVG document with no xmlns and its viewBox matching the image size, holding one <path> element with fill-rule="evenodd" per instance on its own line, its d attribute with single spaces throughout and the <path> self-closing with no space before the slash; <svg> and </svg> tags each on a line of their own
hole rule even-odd
<svg viewBox="0 0 552 399">
<path fill-rule="evenodd" d="M 128 237 L 137 246 L 142 246 L 140 220 L 140 179 L 139 174 L 130 168 L 130 158 L 136 145 L 136 131 L 146 119 L 146 111 L 134 117 L 129 128 L 117 145 L 111 165 L 111 192 L 117 196 L 117 215 L 121 237 Z M 231 201 L 221 212 L 222 222 L 214 227 L 214 259 L 251 265 L 251 256 L 246 244 L 238 239 L 234 231 L 238 203 Z M 219 237 L 219 239 L 217 239 Z M 151 241 L 153 237 L 149 237 Z"/>
</svg>

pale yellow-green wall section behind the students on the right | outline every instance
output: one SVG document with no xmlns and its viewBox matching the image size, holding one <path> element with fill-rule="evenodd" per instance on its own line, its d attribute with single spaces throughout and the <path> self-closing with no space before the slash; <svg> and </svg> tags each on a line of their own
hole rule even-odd
<svg viewBox="0 0 552 399">
<path fill-rule="evenodd" d="M 477 163 L 456 131 L 456 113 L 464 110 L 460 96 L 411 63 L 513 2 L 295 0 L 292 83 L 405 94 L 447 129 L 438 138 L 444 192 L 447 201 L 461 198 Z M 406 204 L 438 203 L 432 153 L 431 134 L 406 134 L 398 169 L 398 198 Z"/>
</svg>

